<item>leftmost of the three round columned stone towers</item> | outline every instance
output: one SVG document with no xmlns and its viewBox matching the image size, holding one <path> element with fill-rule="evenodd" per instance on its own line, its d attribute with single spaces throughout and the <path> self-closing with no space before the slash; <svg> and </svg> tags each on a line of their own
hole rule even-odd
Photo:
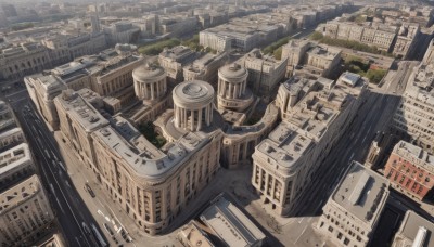
<svg viewBox="0 0 434 247">
<path fill-rule="evenodd" d="M 145 64 L 132 70 L 132 78 L 139 100 L 156 101 L 166 94 L 166 70 L 163 67 Z"/>
</svg>

